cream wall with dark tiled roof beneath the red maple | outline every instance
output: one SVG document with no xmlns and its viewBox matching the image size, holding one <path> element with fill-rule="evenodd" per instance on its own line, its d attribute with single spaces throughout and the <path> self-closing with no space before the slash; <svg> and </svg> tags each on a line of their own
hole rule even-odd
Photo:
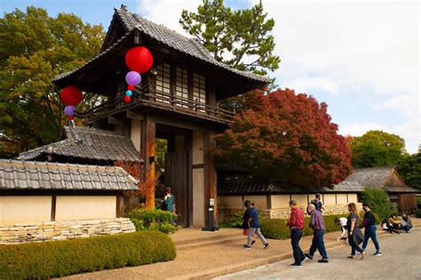
<svg viewBox="0 0 421 280">
<path fill-rule="evenodd" d="M 234 211 L 242 210 L 245 200 L 254 201 L 266 218 L 285 219 L 290 215 L 290 200 L 296 200 L 298 206 L 305 209 L 317 193 L 322 195 L 325 213 L 344 213 L 347 204 L 358 203 L 358 194 L 362 190 L 358 182 L 350 180 L 344 180 L 333 188 L 301 187 L 282 180 L 219 180 L 219 220 L 226 219 Z"/>
</svg>

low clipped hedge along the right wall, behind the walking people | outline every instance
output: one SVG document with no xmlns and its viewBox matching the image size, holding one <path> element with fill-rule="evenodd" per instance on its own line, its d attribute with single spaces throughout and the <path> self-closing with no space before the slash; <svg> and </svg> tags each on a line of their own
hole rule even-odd
<svg viewBox="0 0 421 280">
<path fill-rule="evenodd" d="M 378 218 L 377 214 L 374 214 L 376 217 L 377 224 L 380 223 L 380 219 Z M 338 231 L 340 230 L 340 226 L 335 224 L 335 218 L 340 217 L 347 217 L 347 214 L 340 214 L 340 215 L 325 215 L 323 216 L 324 226 L 326 227 L 326 232 Z M 364 216 L 364 212 L 360 212 L 360 217 Z M 360 222 L 361 222 L 360 220 Z M 313 229 L 308 228 L 308 224 L 310 223 L 310 218 L 306 217 L 304 219 L 304 236 L 311 236 L 313 235 Z M 290 238 L 290 227 L 285 225 L 285 220 L 281 219 L 266 219 L 261 221 L 261 231 L 262 234 L 267 238 L 272 239 L 289 239 Z"/>
</svg>

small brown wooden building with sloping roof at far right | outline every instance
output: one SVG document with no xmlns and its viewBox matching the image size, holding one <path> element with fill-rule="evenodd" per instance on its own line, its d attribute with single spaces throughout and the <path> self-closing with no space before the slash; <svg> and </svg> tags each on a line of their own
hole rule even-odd
<svg viewBox="0 0 421 280">
<path fill-rule="evenodd" d="M 357 168 L 346 179 L 359 182 L 364 188 L 380 188 L 397 204 L 398 212 L 417 211 L 417 189 L 409 188 L 393 166 Z"/>
</svg>

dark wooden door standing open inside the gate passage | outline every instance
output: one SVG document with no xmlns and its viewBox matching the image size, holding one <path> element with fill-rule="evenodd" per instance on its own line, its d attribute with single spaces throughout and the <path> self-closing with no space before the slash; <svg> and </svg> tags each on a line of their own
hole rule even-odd
<svg viewBox="0 0 421 280">
<path fill-rule="evenodd" d="M 188 227 L 188 180 L 187 180 L 187 150 L 169 152 L 165 155 L 165 187 L 171 188 L 176 198 L 176 212 L 179 215 L 178 224 Z"/>
</svg>

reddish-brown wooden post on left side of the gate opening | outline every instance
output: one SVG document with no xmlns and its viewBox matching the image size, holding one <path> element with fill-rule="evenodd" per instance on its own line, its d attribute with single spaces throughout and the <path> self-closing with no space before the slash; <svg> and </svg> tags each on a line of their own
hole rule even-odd
<svg viewBox="0 0 421 280">
<path fill-rule="evenodd" d="M 155 185 L 150 183 L 155 180 L 155 116 L 147 114 L 142 121 L 141 155 L 145 160 L 144 180 L 147 182 L 146 207 L 155 208 Z M 148 186 L 149 185 L 149 186 Z"/>
</svg>

